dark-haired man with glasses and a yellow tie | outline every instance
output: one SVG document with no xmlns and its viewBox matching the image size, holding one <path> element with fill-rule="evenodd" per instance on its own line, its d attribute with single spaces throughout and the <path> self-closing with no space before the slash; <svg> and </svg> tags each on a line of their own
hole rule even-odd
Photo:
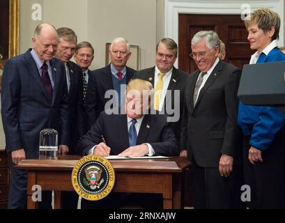
<svg viewBox="0 0 285 223">
<path fill-rule="evenodd" d="M 169 118 L 171 128 L 179 141 L 184 89 L 189 74 L 174 67 L 177 54 L 178 46 L 175 41 L 171 38 L 163 38 L 156 46 L 155 66 L 136 72 L 134 78 L 144 79 L 153 84 L 154 108 L 172 117 L 172 120 Z M 174 118 L 177 116 L 178 119 Z"/>
</svg>

